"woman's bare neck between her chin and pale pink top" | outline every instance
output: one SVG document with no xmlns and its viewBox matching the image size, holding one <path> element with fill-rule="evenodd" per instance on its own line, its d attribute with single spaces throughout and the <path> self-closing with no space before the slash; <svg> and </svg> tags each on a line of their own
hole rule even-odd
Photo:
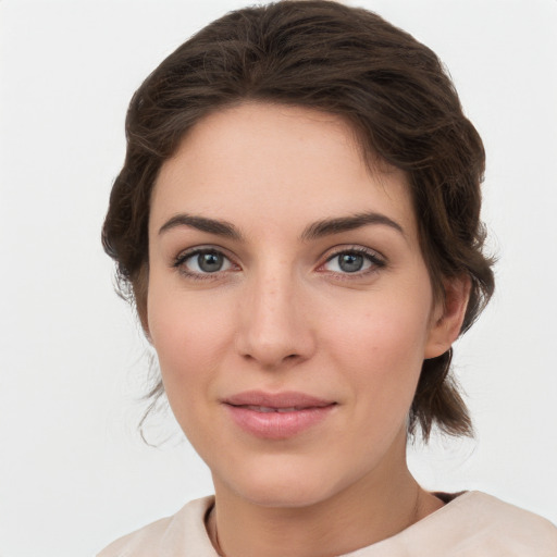
<svg viewBox="0 0 557 557">
<path fill-rule="evenodd" d="M 388 479 L 369 474 L 325 500 L 295 508 L 247 502 L 215 480 L 209 534 L 225 557 L 332 557 L 395 535 L 443 506 L 420 488 L 406 459 L 385 472 Z"/>
</svg>

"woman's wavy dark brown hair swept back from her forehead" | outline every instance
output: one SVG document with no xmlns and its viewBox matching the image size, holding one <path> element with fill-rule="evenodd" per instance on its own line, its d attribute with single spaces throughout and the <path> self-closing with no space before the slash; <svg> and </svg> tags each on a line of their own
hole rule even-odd
<svg viewBox="0 0 557 557">
<path fill-rule="evenodd" d="M 327 0 L 285 0 L 231 12 L 209 24 L 147 77 L 126 119 L 127 152 L 110 196 L 102 243 L 117 263 L 121 294 L 146 320 L 148 219 L 162 163 L 197 122 L 242 102 L 286 103 L 345 119 L 368 161 L 409 177 L 420 243 L 434 293 L 443 280 L 471 281 L 461 332 L 494 289 L 480 220 L 485 154 L 437 57 L 379 15 Z M 409 416 L 471 435 L 449 373 L 451 350 L 423 362 Z M 159 383 L 150 393 L 163 393 Z"/>
</svg>

